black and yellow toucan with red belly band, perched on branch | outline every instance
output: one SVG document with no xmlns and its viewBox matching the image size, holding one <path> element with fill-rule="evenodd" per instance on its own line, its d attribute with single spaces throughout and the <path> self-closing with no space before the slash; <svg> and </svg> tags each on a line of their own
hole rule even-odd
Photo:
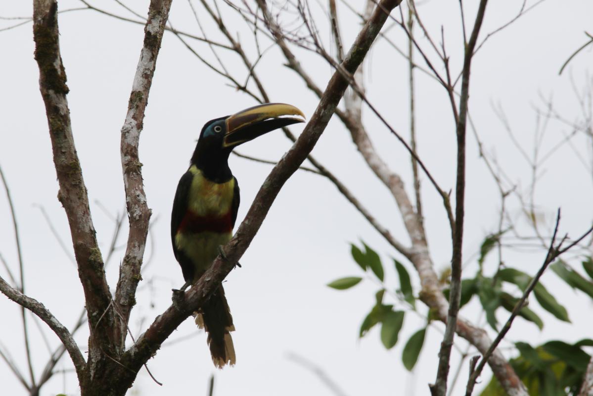
<svg viewBox="0 0 593 396">
<path fill-rule="evenodd" d="M 195 284 L 231 240 L 240 202 L 239 185 L 228 166 L 233 148 L 304 119 L 295 106 L 264 103 L 203 126 L 189 169 L 177 185 L 171 211 L 171 243 L 185 280 L 174 293 L 183 293 Z M 196 325 L 208 332 L 215 367 L 235 365 L 230 334 L 235 327 L 222 284 L 194 317 Z"/>
</svg>

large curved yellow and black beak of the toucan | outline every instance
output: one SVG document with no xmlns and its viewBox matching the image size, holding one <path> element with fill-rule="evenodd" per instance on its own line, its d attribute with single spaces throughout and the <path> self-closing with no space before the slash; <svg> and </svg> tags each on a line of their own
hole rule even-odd
<svg viewBox="0 0 593 396">
<path fill-rule="evenodd" d="M 274 129 L 298 122 L 305 122 L 305 115 L 290 104 L 265 103 L 249 107 L 226 119 L 227 134 L 223 147 L 235 147 Z"/>
</svg>

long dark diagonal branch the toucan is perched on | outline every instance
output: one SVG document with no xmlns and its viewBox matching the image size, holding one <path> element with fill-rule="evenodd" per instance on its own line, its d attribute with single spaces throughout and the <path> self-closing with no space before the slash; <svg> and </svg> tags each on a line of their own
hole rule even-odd
<svg viewBox="0 0 593 396">
<path fill-rule="evenodd" d="M 263 0 L 259 1 L 261 5 Z M 398 4 L 398 0 L 382 0 L 385 9 L 391 11 Z M 387 20 L 387 13 L 375 11 L 368 23 L 362 28 L 352 48 L 345 57 L 343 67 L 353 72 L 368 52 L 369 47 Z M 347 80 L 339 72 L 335 72 L 326 91 L 315 110 L 313 116 L 291 150 L 282 157 L 270 175 L 264 181 L 262 188 L 251 205 L 243 223 L 237 233 L 225 246 L 227 259 L 218 256 L 212 267 L 185 294 L 184 300 L 177 306 L 170 306 L 151 324 L 132 348 L 126 352 L 124 359 L 129 368 L 138 370 L 159 349 L 161 343 L 177 328 L 177 326 L 199 307 L 215 290 L 229 271 L 235 266 L 262 225 L 270 206 L 278 195 L 286 180 L 297 171 L 300 164 L 307 158 L 329 122 L 331 115 L 348 86 Z M 126 375 L 122 372 L 122 375 Z"/>
</svg>

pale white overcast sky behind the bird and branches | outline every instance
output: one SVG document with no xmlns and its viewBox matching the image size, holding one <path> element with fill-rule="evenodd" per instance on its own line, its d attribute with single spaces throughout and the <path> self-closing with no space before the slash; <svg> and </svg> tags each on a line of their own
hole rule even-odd
<svg viewBox="0 0 593 396">
<path fill-rule="evenodd" d="M 148 2 L 141 3 L 130 2 L 130 6 L 144 15 Z M 475 15 L 474 6 L 466 9 L 468 25 Z M 74 0 L 60 1 L 59 7 L 67 9 L 80 7 L 80 4 Z M 130 16 L 111 2 L 101 7 Z M 222 4 L 221 7 L 224 8 Z M 338 7 L 345 47 L 349 47 L 359 24 L 341 3 Z M 361 8 L 361 4 L 353 4 L 353 7 Z M 483 33 L 508 21 L 518 8 L 517 1 L 490 2 Z M 403 11 L 407 14 L 407 8 Z M 451 56 L 452 69 L 457 71 L 463 50 L 458 28 L 458 2 L 431 1 L 420 7 L 420 12 L 437 42 L 440 41 L 441 25 L 445 27 L 447 52 Z M 31 4 L 28 2 L 0 5 L 2 17 L 30 14 Z M 538 95 L 553 95 L 554 104 L 562 115 L 570 120 L 578 117 L 578 102 L 572 92 L 570 76 L 576 85 L 584 87 L 586 78 L 591 78 L 586 74 L 592 60 L 591 50 L 576 56 L 562 76 L 558 71 L 568 56 L 586 41 L 583 32 L 592 31 L 591 15 L 593 3 L 590 1 L 547 0 L 493 36 L 475 58 L 471 116 L 486 149 L 496 153 L 499 163 L 521 191 L 528 186 L 530 169 L 496 118 L 492 103 L 500 103 L 505 109 L 515 136 L 528 150 L 535 129 L 533 108 L 543 107 Z M 323 18 L 320 12 L 317 16 Z M 224 40 L 208 23 L 207 15 L 200 14 L 200 18 L 206 30 L 212 32 L 209 37 Z M 180 30 L 199 34 L 184 1 L 174 2 L 170 21 Z M 0 22 L 2 26 L 10 26 L 15 21 Z M 329 29 L 325 24 L 319 24 L 321 34 L 327 38 Z M 90 194 L 97 237 L 105 254 L 113 221 L 98 203 L 108 208 L 111 214 L 123 210 L 120 128 L 142 45 L 142 26 L 116 21 L 93 11 L 62 14 L 59 26 L 62 58 L 71 90 L 68 100 L 76 148 Z M 229 18 L 228 27 L 233 32 L 240 31 L 243 45 L 253 59 L 253 40 L 245 25 L 238 18 Z M 403 31 L 394 27 L 390 37 L 401 48 L 406 48 Z M 213 59 L 207 46 L 190 42 L 200 54 Z M 262 42 L 266 43 L 266 40 Z M 71 326 L 82 307 L 82 289 L 74 264 L 60 249 L 37 207 L 43 206 L 70 248 L 68 223 L 56 199 L 58 183 L 39 94 L 39 72 L 33 59 L 31 25 L 1 31 L 0 47 L 4 54 L 0 62 L 0 165 L 8 178 L 17 210 L 25 287 L 29 296 L 43 302 L 63 324 Z M 299 54 L 305 69 L 324 87 L 331 73 L 329 66 L 311 53 Z M 247 74 L 237 63 L 238 58 L 224 55 L 223 59 L 238 80 L 244 81 Z M 377 43 L 368 59 L 365 78 L 371 102 L 387 116 L 394 128 L 407 136 L 406 62 L 382 41 Z M 420 62 L 419 56 L 416 59 Z M 282 63 L 280 52 L 273 48 L 257 65 L 269 96 L 275 102 L 294 104 L 305 115 L 310 115 L 317 100 L 302 86 L 294 72 L 281 66 Z M 440 185 L 446 190 L 454 189 L 455 144 L 451 110 L 444 90 L 421 73 L 416 75 L 419 153 Z M 154 258 L 143 273 L 145 281 L 141 283 L 138 305 L 130 321 L 135 334 L 170 305 L 171 287 L 183 283 L 171 252 L 168 224 L 178 178 L 186 170 L 203 123 L 254 104 L 250 97 L 225 84 L 227 81 L 200 63 L 176 37 L 165 34 L 141 137 L 140 159 L 144 163 L 146 194 L 154 221 L 151 233 L 154 251 L 147 248 L 147 256 L 154 255 Z M 411 192 L 411 172 L 405 151 L 368 110 L 365 110 L 365 123 L 378 152 L 400 173 Z M 300 130 L 301 126 L 292 128 L 295 133 Z M 553 147 L 562 139 L 561 133 L 567 131 L 558 123 L 551 123 L 544 146 Z M 479 249 L 487 233 L 495 230 L 500 205 L 496 186 L 477 156 L 470 131 L 467 141 L 465 258 Z M 591 148 L 586 148 L 586 144 L 584 139 L 575 138 L 577 150 L 591 161 Z M 289 142 L 282 133 L 273 132 L 241 146 L 239 151 L 273 160 L 279 159 L 288 147 Z M 313 153 L 355 192 L 382 224 L 407 243 L 393 199 L 369 172 L 339 121 L 330 122 Z M 242 204 L 238 219 L 242 220 L 270 166 L 237 157 L 231 157 L 230 164 L 241 186 Z M 561 230 L 576 236 L 591 224 L 591 173 L 569 147 L 563 147 L 544 167 L 546 173 L 536 191 L 540 210 L 551 221 L 556 208 L 562 207 Z M 426 178 L 423 178 L 423 198 L 431 255 L 437 270 L 441 270 L 450 258 L 450 234 L 444 210 Z M 513 213 L 518 214 L 517 202 L 511 205 L 514 205 L 511 207 Z M 164 385 L 159 387 L 152 382 L 143 369 L 130 394 L 170 395 L 195 389 L 192 394 L 202 395 L 206 393 L 211 373 L 216 376 L 215 395 L 218 396 L 330 394 L 313 373 L 288 358 L 291 353 L 320 366 L 347 395 L 428 394 L 426 383 L 435 378 L 436 353 L 441 339 L 438 330 L 443 326 L 436 324 L 430 328 L 415 374 L 410 375 L 401 365 L 401 350 L 407 338 L 423 325 L 422 316 L 407 313 L 400 342 L 387 351 L 380 343 L 378 328 L 364 339 L 358 339 L 359 325 L 374 303 L 377 286 L 370 280 L 346 292 L 325 286 L 339 277 L 361 275 L 350 258 L 348 246 L 349 242 L 359 239 L 364 239 L 380 252 L 386 269 L 386 283 L 390 289 L 396 289 L 397 275 L 390 256 L 398 256 L 397 253 L 329 182 L 310 173 L 298 172 L 280 192 L 262 229 L 241 259 L 243 268 L 232 271 L 225 283 L 237 327 L 233 334 L 237 366 L 215 371 L 205 335 L 198 334 L 193 322 L 188 320 L 171 339 L 192 333 L 196 333 L 195 337 L 173 346 L 165 344 L 148 363 L 151 372 Z M 17 273 L 12 224 L 4 194 L 0 194 L 0 241 L 0 253 Z M 121 238 L 119 245 L 123 243 L 125 239 Z M 118 250 L 107 268 L 112 292 L 117 278 L 116 262 L 122 254 L 123 250 Z M 509 265 L 535 273 L 543 256 L 541 252 L 509 252 L 506 259 Z M 412 273 L 412 267 L 406 265 Z M 493 270 L 495 263 L 490 262 L 488 268 Z M 475 260 L 469 262 L 466 270 L 468 276 L 475 273 Z M 0 274 L 6 277 L 4 268 Z M 412 273 L 412 279 L 417 292 L 419 280 L 415 273 Z M 590 300 L 583 294 L 573 293 L 554 274 L 544 275 L 543 281 L 569 309 L 573 324 L 554 321 L 534 303 L 535 311 L 546 322 L 544 331 L 540 333 L 534 325 L 519 319 L 508 339 L 539 344 L 550 338 L 574 341 L 591 337 L 591 315 L 579 314 L 582 312 L 579 306 L 586 305 L 586 310 L 591 309 Z M 0 340 L 25 373 L 20 312 L 5 298 L 0 299 L 0 311 Z M 425 311 L 424 307 L 420 308 L 423 315 Z M 477 304 L 474 302 L 462 313 L 470 319 L 477 318 Z M 500 311 L 498 317 L 499 321 L 505 321 L 507 315 Z M 39 376 L 48 354 L 32 322 L 30 328 L 34 368 Z M 55 348 L 57 338 L 43 324 L 42 328 Z M 80 332 L 76 340 L 84 346 L 86 334 Z M 465 344 L 461 342 L 460 346 L 465 347 Z M 452 370 L 457 367 L 459 355 L 454 352 L 453 356 Z M 67 356 L 58 365 L 60 369 L 70 367 Z M 456 394 L 464 387 L 466 372 L 467 366 L 464 366 Z M 4 362 L 0 363 L 0 378 L 2 391 L 6 394 L 24 393 Z M 486 381 L 489 373 L 483 378 Z M 42 395 L 59 392 L 77 394 L 73 373 L 65 377 L 56 375 L 45 385 Z"/>
</svg>

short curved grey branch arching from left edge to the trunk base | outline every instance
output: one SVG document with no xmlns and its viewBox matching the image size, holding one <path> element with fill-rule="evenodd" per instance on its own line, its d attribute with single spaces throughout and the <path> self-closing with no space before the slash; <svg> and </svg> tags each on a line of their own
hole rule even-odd
<svg viewBox="0 0 593 396">
<path fill-rule="evenodd" d="M 33 312 L 35 315 L 39 316 L 42 321 L 46 322 L 50 329 L 56 333 L 60 341 L 62 341 L 63 346 L 68 351 L 70 358 L 72 359 L 72 363 L 74 363 L 74 368 L 76 369 L 76 375 L 78 378 L 82 378 L 84 375 L 84 370 L 86 367 L 86 362 L 84 357 L 82 356 L 81 351 L 76 346 L 76 341 L 72 338 L 72 335 L 65 328 L 55 316 L 52 315 L 51 312 L 45 306 L 40 303 L 39 301 L 32 299 L 31 297 L 25 296 L 23 293 L 19 292 L 14 287 L 10 286 L 6 281 L 0 277 L 0 291 L 5 294 L 9 299 L 14 301 L 20 306 L 27 308 L 29 311 Z"/>
</svg>

